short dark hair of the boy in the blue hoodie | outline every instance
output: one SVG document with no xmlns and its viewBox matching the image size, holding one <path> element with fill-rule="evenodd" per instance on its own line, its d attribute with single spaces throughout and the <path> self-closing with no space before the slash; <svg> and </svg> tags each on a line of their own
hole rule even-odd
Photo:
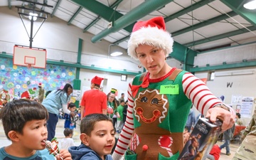
<svg viewBox="0 0 256 160">
<path fill-rule="evenodd" d="M 100 121 L 112 122 L 112 119 L 110 119 L 110 117 L 107 117 L 106 114 L 88 114 L 81 121 L 80 132 L 90 136 L 92 130 L 94 129 L 95 123 Z"/>
</svg>

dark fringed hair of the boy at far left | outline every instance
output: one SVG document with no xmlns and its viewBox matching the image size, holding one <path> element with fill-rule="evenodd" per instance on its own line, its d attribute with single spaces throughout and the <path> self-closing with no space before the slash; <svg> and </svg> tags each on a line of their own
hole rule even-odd
<svg viewBox="0 0 256 160">
<path fill-rule="evenodd" d="M 48 120 L 48 118 L 49 115 L 46 107 L 36 101 L 26 99 L 8 102 L 0 112 L 0 119 L 8 139 L 8 133 L 12 130 L 23 134 L 23 127 L 26 122 L 34 119 Z"/>
</svg>

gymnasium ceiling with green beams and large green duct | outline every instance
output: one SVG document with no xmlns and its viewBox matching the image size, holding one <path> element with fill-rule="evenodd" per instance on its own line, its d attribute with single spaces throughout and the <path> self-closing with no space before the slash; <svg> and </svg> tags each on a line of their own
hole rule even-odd
<svg viewBox="0 0 256 160">
<path fill-rule="evenodd" d="M 256 10 L 243 8 L 246 0 L 1 0 L 0 6 L 33 8 L 29 1 L 92 33 L 93 43 L 105 39 L 125 49 L 134 23 L 154 16 L 164 16 L 174 50 L 201 52 L 256 39 Z"/>
</svg>

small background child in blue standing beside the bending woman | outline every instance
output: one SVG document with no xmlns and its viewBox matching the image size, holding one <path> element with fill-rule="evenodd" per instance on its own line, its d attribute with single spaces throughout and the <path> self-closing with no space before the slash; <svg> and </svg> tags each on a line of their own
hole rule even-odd
<svg viewBox="0 0 256 160">
<path fill-rule="evenodd" d="M 63 119 L 65 119 L 64 128 L 74 129 L 76 127 L 76 120 L 75 116 L 73 117 L 71 113 L 75 112 L 76 110 L 75 103 L 70 102 L 68 105 L 68 110 L 70 110 L 70 114 L 65 113 L 63 116 Z"/>
</svg>

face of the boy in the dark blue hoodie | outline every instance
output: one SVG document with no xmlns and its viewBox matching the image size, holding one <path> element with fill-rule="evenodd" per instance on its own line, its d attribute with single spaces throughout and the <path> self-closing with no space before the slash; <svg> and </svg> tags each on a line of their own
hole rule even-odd
<svg viewBox="0 0 256 160">
<path fill-rule="evenodd" d="M 87 139 L 87 146 L 90 146 L 103 159 L 103 156 L 110 154 L 114 147 L 114 134 L 112 122 L 96 122 L 91 136 Z"/>
</svg>

